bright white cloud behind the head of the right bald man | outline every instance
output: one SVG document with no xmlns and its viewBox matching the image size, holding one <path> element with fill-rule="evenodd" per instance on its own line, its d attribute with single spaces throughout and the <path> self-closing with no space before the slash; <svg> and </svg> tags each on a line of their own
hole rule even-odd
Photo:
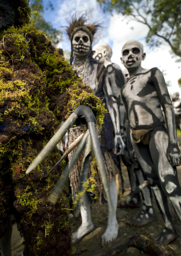
<svg viewBox="0 0 181 256">
<path fill-rule="evenodd" d="M 132 30 L 131 27 L 134 27 Z M 157 67 L 164 71 L 165 81 L 170 81 L 171 86 L 168 87 L 169 92 L 178 91 L 181 95 L 181 89 L 178 86 L 178 79 L 181 78 L 180 63 L 175 62 L 170 54 L 168 45 L 161 45 L 159 48 L 150 50 L 145 42 L 145 36 L 148 33 L 148 28 L 144 24 L 136 21 L 123 19 L 122 15 L 114 15 L 111 17 L 109 26 L 109 37 L 113 41 L 112 62 L 117 63 L 122 69 L 121 64 L 121 49 L 125 42 L 135 39 L 143 43 L 146 59 L 142 62 L 143 68 Z"/>
</svg>

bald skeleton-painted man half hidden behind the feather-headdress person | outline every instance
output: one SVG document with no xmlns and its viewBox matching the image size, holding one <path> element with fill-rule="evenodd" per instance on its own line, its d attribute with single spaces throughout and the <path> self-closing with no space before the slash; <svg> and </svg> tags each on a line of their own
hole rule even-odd
<svg viewBox="0 0 181 256">
<path fill-rule="evenodd" d="M 107 68 L 107 74 L 105 78 L 105 83 L 107 84 L 107 87 L 109 88 L 109 93 L 113 95 L 114 99 L 118 103 L 119 106 L 119 120 L 120 120 L 120 130 L 121 135 L 126 143 L 126 120 L 125 120 L 125 109 L 123 106 L 123 102 L 121 100 L 121 88 L 125 85 L 125 77 L 123 75 L 123 72 L 121 68 L 110 61 L 110 58 L 112 56 L 112 49 L 107 43 L 99 43 L 97 45 L 94 45 L 93 47 L 93 58 L 100 63 L 103 63 L 104 66 Z M 128 72 L 128 70 L 126 70 Z M 128 73 L 129 75 L 129 73 Z M 128 81 L 128 80 L 127 80 Z M 109 110 L 111 111 L 111 110 Z M 128 168 L 128 174 L 130 178 L 130 184 L 131 189 L 135 189 L 135 187 L 138 184 L 137 179 L 139 180 L 139 183 L 143 183 L 144 176 L 140 169 L 140 166 L 138 163 L 131 164 L 128 156 L 128 151 L 125 150 L 124 155 L 121 156 L 124 164 Z M 136 174 L 136 176 L 135 176 Z M 144 206 L 143 210 L 140 213 L 140 215 L 145 215 L 149 213 L 150 207 L 152 205 L 151 203 L 151 191 L 150 188 L 146 188 L 142 191 L 143 198 L 144 198 Z M 127 201 L 123 201 L 120 204 L 118 204 L 118 207 L 141 207 L 143 204 L 140 199 L 140 195 L 136 195 L 131 202 L 127 203 Z M 146 215 L 147 216 L 147 215 Z M 149 215 L 148 215 L 149 216 Z M 142 221 L 136 221 L 133 219 L 130 224 L 135 226 L 143 226 L 148 224 L 152 218 L 150 217 L 146 218 L 145 220 L 142 219 Z"/>
</svg>

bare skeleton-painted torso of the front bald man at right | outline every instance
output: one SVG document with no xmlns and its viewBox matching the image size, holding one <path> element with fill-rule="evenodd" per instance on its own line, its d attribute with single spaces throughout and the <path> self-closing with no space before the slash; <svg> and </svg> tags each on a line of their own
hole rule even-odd
<svg viewBox="0 0 181 256">
<path fill-rule="evenodd" d="M 164 122 L 160 101 L 152 82 L 156 70 L 158 69 L 152 68 L 135 74 L 123 88 L 130 126 L 133 129 L 151 129 Z"/>
</svg>

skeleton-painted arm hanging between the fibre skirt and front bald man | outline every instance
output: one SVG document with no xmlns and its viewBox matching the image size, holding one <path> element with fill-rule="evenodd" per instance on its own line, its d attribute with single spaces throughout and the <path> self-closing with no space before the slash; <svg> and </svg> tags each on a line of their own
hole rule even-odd
<svg viewBox="0 0 181 256">
<path fill-rule="evenodd" d="M 104 92 L 104 97 L 107 103 L 108 111 L 110 112 L 110 118 L 113 122 L 113 127 L 114 127 L 114 133 L 115 133 L 114 153 L 117 155 L 124 154 L 124 150 L 126 146 L 123 142 L 123 139 L 120 133 L 118 104 L 115 98 L 113 97 L 113 92 L 109 84 L 108 76 L 105 77 L 103 92 Z"/>
</svg>

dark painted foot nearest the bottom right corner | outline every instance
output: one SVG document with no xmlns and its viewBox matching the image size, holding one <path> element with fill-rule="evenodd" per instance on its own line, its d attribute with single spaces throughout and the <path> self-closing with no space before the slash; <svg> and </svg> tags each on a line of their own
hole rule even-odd
<svg viewBox="0 0 181 256">
<path fill-rule="evenodd" d="M 172 241 L 174 241 L 178 237 L 177 231 L 173 231 L 171 229 L 168 229 L 167 227 L 164 228 L 164 230 L 155 237 L 155 242 L 157 244 L 169 244 Z"/>
</svg>

